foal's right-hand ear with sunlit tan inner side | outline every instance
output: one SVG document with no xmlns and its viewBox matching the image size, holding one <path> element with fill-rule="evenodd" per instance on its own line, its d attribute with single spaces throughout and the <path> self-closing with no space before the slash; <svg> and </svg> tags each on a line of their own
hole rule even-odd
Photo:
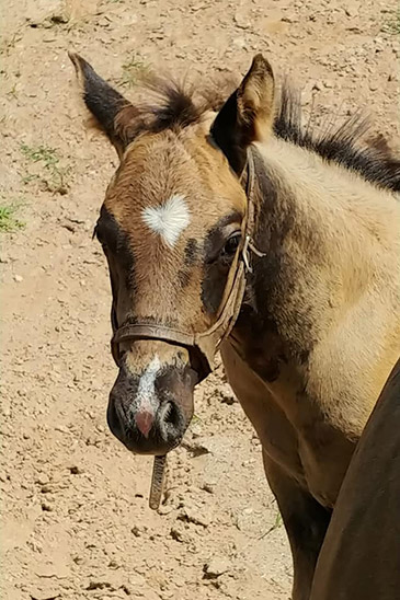
<svg viewBox="0 0 400 600">
<path fill-rule="evenodd" d="M 253 58 L 249 72 L 239 88 L 219 111 L 212 136 L 240 174 L 245 164 L 247 149 L 253 141 L 263 141 L 274 122 L 275 82 L 270 62 L 261 55 Z"/>
</svg>

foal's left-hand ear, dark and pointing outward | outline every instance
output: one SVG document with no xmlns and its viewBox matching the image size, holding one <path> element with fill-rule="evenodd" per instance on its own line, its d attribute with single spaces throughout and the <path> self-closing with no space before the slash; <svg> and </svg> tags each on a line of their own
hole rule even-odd
<svg viewBox="0 0 400 600">
<path fill-rule="evenodd" d="M 87 107 L 99 127 L 108 136 L 121 158 L 132 141 L 129 125 L 138 115 L 137 108 L 98 76 L 93 67 L 81 56 L 76 53 L 68 53 L 68 56 L 77 71 Z"/>
</svg>

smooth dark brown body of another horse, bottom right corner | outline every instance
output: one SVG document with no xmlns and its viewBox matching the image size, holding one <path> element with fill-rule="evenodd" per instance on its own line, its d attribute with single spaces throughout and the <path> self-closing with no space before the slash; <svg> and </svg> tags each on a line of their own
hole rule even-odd
<svg viewBox="0 0 400 600">
<path fill-rule="evenodd" d="M 400 360 L 363 431 L 318 558 L 311 600 L 400 590 Z"/>
</svg>

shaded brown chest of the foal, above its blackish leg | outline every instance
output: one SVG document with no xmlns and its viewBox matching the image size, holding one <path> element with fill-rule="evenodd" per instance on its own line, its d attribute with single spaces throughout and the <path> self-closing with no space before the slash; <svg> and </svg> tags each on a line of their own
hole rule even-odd
<svg viewBox="0 0 400 600">
<path fill-rule="evenodd" d="M 263 451 L 323 506 L 333 507 L 353 443 L 323 420 L 306 395 L 298 393 L 300 383 L 295 374 L 285 368 L 278 372 L 268 360 L 263 369 L 251 368 L 227 344 L 221 355 L 229 383 Z M 285 384 L 279 385 L 283 378 Z"/>
</svg>

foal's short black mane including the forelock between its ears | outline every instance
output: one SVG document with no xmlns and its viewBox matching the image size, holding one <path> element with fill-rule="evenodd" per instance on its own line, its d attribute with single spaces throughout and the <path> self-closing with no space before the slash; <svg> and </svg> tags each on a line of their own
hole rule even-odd
<svg viewBox="0 0 400 600">
<path fill-rule="evenodd" d="M 228 83 L 230 91 L 231 83 Z M 139 129 L 153 132 L 198 123 L 207 111 L 218 111 L 229 95 L 227 84 L 196 90 L 197 101 L 194 88 L 185 89 L 173 81 L 156 79 L 148 81 L 146 88 L 159 102 L 141 107 Z M 282 86 L 274 120 L 277 137 L 355 171 L 372 184 L 400 192 L 400 158 L 393 155 L 384 136 L 366 141 L 369 131 L 368 120 L 356 113 L 339 127 L 311 132 L 304 124 L 300 94 L 286 83 Z"/>
</svg>

